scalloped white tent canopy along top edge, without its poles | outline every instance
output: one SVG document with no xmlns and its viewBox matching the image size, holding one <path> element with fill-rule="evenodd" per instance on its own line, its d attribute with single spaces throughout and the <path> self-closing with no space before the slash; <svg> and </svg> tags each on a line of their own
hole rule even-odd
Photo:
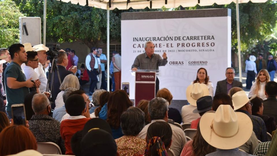
<svg viewBox="0 0 277 156">
<path fill-rule="evenodd" d="M 71 2 L 72 4 L 86 5 L 86 0 L 61 0 L 63 2 Z M 166 8 L 177 8 L 180 5 L 182 7 L 194 7 L 195 5 L 208 6 L 214 3 L 218 5 L 230 4 L 232 2 L 236 3 L 236 0 L 130 0 L 127 6 L 127 0 L 111 0 L 111 7 L 109 10 L 114 10 L 115 8 L 120 10 L 125 10 L 129 8 L 133 9 L 144 9 L 146 7 L 150 8 L 150 2 L 152 3 L 152 9 L 160 9 L 163 6 Z M 250 0 L 239 0 L 238 3 L 247 3 Z M 267 0 L 251 0 L 253 3 L 264 3 Z M 95 8 L 107 9 L 109 5 L 109 0 L 88 0 L 88 5 Z"/>
</svg>

